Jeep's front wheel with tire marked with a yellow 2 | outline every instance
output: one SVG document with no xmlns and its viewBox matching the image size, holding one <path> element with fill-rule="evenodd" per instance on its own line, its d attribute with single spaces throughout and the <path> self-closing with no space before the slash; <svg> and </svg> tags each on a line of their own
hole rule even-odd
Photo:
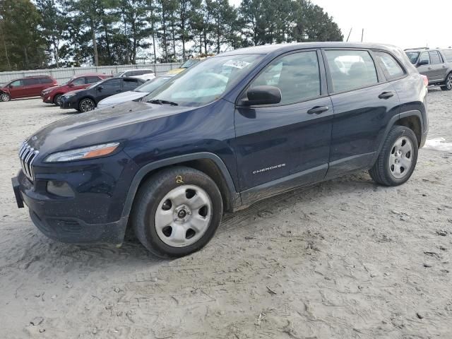
<svg viewBox="0 0 452 339">
<path fill-rule="evenodd" d="M 142 184 L 131 222 L 136 237 L 152 254 L 178 258 L 212 239 L 222 209 L 220 190 L 210 177 L 190 167 L 172 167 Z"/>
</svg>

